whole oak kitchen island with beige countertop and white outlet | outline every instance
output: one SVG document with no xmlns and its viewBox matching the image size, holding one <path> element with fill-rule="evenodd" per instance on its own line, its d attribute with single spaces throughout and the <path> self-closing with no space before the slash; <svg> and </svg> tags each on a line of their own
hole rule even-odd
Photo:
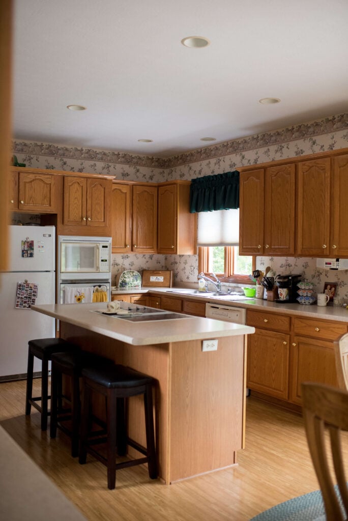
<svg viewBox="0 0 348 521">
<path fill-rule="evenodd" d="M 136 313 L 136 305 L 122 306 L 133 309 L 133 318 L 102 314 L 106 303 L 32 309 L 59 319 L 61 338 L 157 380 L 156 448 L 165 483 L 234 465 L 244 443 L 244 336 L 255 329 L 159 309 L 146 315 L 148 308 Z M 217 350 L 210 350 L 216 343 Z M 144 445 L 144 421 L 139 418 L 142 401 L 134 397 L 130 436 Z"/>
</svg>

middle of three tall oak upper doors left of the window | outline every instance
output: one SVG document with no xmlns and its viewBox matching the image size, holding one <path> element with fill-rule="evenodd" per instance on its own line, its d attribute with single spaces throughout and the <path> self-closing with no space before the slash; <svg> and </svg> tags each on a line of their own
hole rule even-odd
<svg viewBox="0 0 348 521">
<path fill-rule="evenodd" d="M 132 250 L 157 252 L 157 187 L 133 186 Z"/>
</svg>

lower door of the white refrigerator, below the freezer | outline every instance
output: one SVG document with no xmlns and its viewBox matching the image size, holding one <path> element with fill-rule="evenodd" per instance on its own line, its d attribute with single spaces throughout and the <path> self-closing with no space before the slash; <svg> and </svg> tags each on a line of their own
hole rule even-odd
<svg viewBox="0 0 348 521">
<path fill-rule="evenodd" d="M 28 279 L 38 284 L 35 304 L 54 304 L 54 273 L 0 274 L 0 379 L 27 373 L 28 341 L 54 338 L 55 320 L 31 309 L 16 309 L 17 283 Z M 35 358 L 34 371 L 41 371 Z"/>
</svg>

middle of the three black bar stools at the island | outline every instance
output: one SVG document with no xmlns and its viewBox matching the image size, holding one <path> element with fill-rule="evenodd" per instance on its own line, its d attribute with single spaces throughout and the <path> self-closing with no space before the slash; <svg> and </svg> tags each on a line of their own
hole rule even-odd
<svg viewBox="0 0 348 521">
<path fill-rule="evenodd" d="M 84 367 L 102 367 L 114 365 L 108 358 L 95 355 L 86 351 L 71 351 L 54 353 L 52 355 L 51 369 L 51 424 L 49 436 L 55 438 L 57 428 L 71 438 L 71 455 L 79 454 L 79 429 L 80 429 L 80 377 Z M 70 378 L 71 397 L 67 398 L 62 392 L 63 375 Z M 63 408 L 63 401 L 70 403 L 69 410 Z M 63 422 L 71 421 L 71 428 Z M 105 432 L 105 429 L 104 431 Z"/>
</svg>

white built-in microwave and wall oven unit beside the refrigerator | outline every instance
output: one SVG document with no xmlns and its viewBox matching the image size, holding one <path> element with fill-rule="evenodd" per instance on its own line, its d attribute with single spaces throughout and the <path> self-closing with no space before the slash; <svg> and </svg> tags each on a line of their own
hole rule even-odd
<svg viewBox="0 0 348 521">
<path fill-rule="evenodd" d="M 67 301 L 71 288 L 90 295 L 91 291 L 111 291 L 111 237 L 58 236 L 59 303 Z"/>
</svg>

